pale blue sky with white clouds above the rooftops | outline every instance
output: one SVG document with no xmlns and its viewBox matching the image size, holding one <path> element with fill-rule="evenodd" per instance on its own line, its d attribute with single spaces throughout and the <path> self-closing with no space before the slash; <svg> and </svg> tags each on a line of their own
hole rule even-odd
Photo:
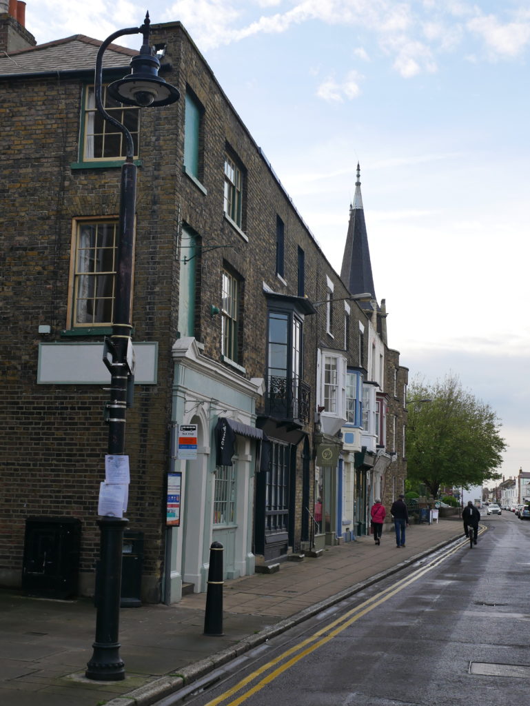
<svg viewBox="0 0 530 706">
<path fill-rule="evenodd" d="M 356 164 L 388 342 L 530 471 L 530 0 L 27 0 L 40 44 L 181 20 L 331 265 Z M 139 35 L 125 37 L 140 47 Z M 493 485 L 493 484 L 490 484 Z"/>
</svg>

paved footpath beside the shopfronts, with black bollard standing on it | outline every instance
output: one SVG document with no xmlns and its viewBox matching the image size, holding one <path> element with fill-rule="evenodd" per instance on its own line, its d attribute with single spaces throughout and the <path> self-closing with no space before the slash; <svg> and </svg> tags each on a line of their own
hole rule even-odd
<svg viewBox="0 0 530 706">
<path fill-rule="evenodd" d="M 121 609 L 124 681 L 85 678 L 95 639 L 92 601 L 0 590 L 0 703 L 150 706 L 462 536 L 458 518 L 411 525 L 406 546 L 399 549 L 387 531 L 380 546 L 372 537 L 359 537 L 327 548 L 318 558 L 285 561 L 277 573 L 227 581 L 220 637 L 203 634 L 206 594 L 186 595 L 171 606 Z"/>
</svg>

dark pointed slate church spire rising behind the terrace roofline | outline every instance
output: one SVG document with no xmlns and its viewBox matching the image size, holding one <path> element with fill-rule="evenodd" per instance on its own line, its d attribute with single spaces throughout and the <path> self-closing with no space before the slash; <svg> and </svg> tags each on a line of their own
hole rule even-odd
<svg viewBox="0 0 530 706">
<path fill-rule="evenodd" d="M 355 182 L 354 203 L 349 209 L 349 225 L 342 258 L 340 277 L 347 285 L 351 294 L 370 292 L 373 299 L 375 288 L 373 286 L 372 265 L 370 249 L 368 248 L 368 235 L 364 222 L 363 198 L 361 196 L 361 169 L 357 163 L 357 181 Z"/>
</svg>

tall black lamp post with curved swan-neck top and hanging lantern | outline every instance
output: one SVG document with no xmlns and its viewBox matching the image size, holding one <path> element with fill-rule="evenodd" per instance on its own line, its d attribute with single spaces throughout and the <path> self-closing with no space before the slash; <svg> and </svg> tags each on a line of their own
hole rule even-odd
<svg viewBox="0 0 530 706">
<path fill-rule="evenodd" d="M 159 78 L 160 62 L 149 45 L 149 13 L 141 27 L 119 30 L 107 37 L 97 52 L 95 68 L 95 100 L 103 118 L 119 129 L 126 140 L 126 161 L 121 167 L 119 234 L 116 253 L 116 286 L 112 335 L 105 340 L 104 363 L 111 373 L 110 401 L 107 403 L 109 423 L 109 455 L 125 452 L 125 424 L 128 386 L 132 382 L 131 364 L 131 280 L 133 264 L 134 215 L 136 203 L 136 165 L 131 133 L 102 104 L 103 53 L 111 42 L 123 35 L 143 35 L 140 54 L 131 59 L 131 73 L 107 87 L 121 103 L 138 107 L 169 105 L 179 100 L 179 91 Z M 112 361 L 109 360 L 112 357 Z M 98 681 L 121 681 L 125 665 L 119 655 L 119 608 L 121 592 L 121 555 L 124 527 L 128 520 L 100 517 L 100 567 L 97 577 L 97 618 L 94 652 L 85 676 Z"/>
</svg>

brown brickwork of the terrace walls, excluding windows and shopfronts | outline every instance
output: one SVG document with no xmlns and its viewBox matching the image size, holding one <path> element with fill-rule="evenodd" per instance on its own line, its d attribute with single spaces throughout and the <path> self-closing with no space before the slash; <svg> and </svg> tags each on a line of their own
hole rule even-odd
<svg viewBox="0 0 530 706">
<path fill-rule="evenodd" d="M 197 232 L 203 247 L 196 258 L 195 333 L 207 357 L 221 359 L 220 317 L 210 316 L 210 306 L 220 306 L 222 267 L 229 265 L 244 282 L 241 365 L 247 378 L 265 374 L 267 305 L 263 282 L 276 292 L 296 295 L 299 246 L 306 256 L 309 299 L 325 299 L 325 275 L 335 283 L 335 298 L 347 297 L 349 292 L 186 32 L 179 23 L 156 25 L 153 30 L 152 43 L 167 41 L 164 61 L 174 68 L 164 77 L 177 85 L 181 100 L 141 114 L 133 339 L 159 342 L 158 383 L 136 385 L 134 406 L 127 415 L 126 453 L 131 459 L 130 529 L 145 532 L 144 573 L 154 587 L 150 598 L 157 599 L 164 556 L 164 478 L 169 468 L 171 345 L 179 335 L 181 222 Z M 207 193 L 198 189 L 181 167 L 186 85 L 205 107 L 203 186 Z M 81 569 L 91 575 L 95 566 L 97 494 L 107 450 L 102 412 L 108 393 L 101 385 L 37 385 L 37 350 L 42 340 L 73 340 L 61 333 L 68 328 L 72 220 L 117 215 L 120 169 L 70 167 L 78 160 L 79 78 L 2 81 L 0 90 L 0 153 L 4 155 L 0 252 L 6 272 L 0 311 L 4 332 L 0 356 L 0 424 L 4 430 L 0 442 L 0 582 L 12 584 L 20 575 L 23 527 L 31 515 L 79 517 L 83 521 Z M 246 169 L 248 241 L 223 215 L 227 143 Z M 285 225 L 287 285 L 275 273 L 277 215 Z M 345 209 L 344 237 L 346 232 Z M 344 307 L 335 306 L 335 339 L 325 332 L 325 306 L 306 317 L 303 379 L 311 385 L 312 409 L 316 399 L 315 349 L 321 342 L 337 349 L 344 345 Z M 359 321 L 366 329 L 368 325 L 359 306 L 354 301 L 350 306 L 348 357 L 357 365 Z M 52 333 L 39 335 L 40 324 L 51 325 Z M 365 338 L 367 342 L 368 336 Z M 90 340 L 101 342 L 102 335 Z M 404 379 L 406 369 L 399 370 Z M 263 409 L 262 402 L 258 409 Z M 310 442 L 312 422 L 305 429 Z M 296 537 L 301 532 L 302 448 L 303 444 L 299 445 L 296 453 Z M 310 485 L 313 503 L 314 484 Z"/>
</svg>

